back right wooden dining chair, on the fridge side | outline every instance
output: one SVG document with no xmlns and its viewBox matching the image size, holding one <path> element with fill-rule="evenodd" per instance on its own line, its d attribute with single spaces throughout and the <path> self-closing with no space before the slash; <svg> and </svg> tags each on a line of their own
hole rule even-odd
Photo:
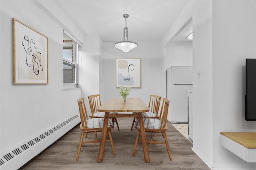
<svg viewBox="0 0 256 170">
<path fill-rule="evenodd" d="M 149 96 L 150 96 L 150 98 L 149 98 L 148 108 L 150 110 L 148 112 L 143 112 L 142 116 L 143 116 L 143 118 L 159 118 L 158 111 L 159 111 L 161 96 L 157 96 L 157 95 L 153 95 L 153 94 L 150 94 Z M 136 112 L 134 112 L 134 113 L 136 113 Z M 138 114 L 138 113 L 136 113 L 136 114 Z M 132 121 L 131 131 L 133 129 L 135 120 L 136 120 L 136 118 L 134 117 L 134 119 Z M 137 118 L 137 120 L 138 120 L 138 118 Z"/>
</svg>

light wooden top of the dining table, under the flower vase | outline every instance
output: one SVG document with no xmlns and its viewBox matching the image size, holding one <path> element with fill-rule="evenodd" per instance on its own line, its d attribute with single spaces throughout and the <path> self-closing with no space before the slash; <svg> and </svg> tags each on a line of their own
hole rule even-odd
<svg viewBox="0 0 256 170">
<path fill-rule="evenodd" d="M 127 103 L 123 104 L 121 98 L 112 98 L 102 104 L 98 111 L 102 112 L 147 112 L 148 106 L 139 98 L 127 98 Z"/>
</svg>

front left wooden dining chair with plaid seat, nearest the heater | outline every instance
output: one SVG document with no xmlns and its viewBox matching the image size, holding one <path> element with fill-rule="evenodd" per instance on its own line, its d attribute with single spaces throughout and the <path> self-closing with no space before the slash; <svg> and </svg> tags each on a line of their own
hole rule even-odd
<svg viewBox="0 0 256 170">
<path fill-rule="evenodd" d="M 83 141 L 84 133 L 101 132 L 102 127 L 103 127 L 103 122 L 104 122 L 104 118 L 92 118 L 92 119 L 87 119 L 86 118 L 86 112 L 84 111 L 85 105 L 84 105 L 83 99 L 84 98 L 80 98 L 80 99 L 77 100 L 78 107 L 79 107 L 79 113 L 80 113 L 80 119 L 81 119 L 80 129 L 81 129 L 82 133 L 81 133 L 81 137 L 80 137 L 80 142 L 79 142 L 79 146 L 78 146 L 76 160 L 78 160 L 78 158 L 79 158 L 80 151 L 81 151 L 81 148 L 82 148 L 82 144 L 85 144 L 85 143 L 100 143 L 100 140 L 98 140 L 97 137 L 96 137 L 96 140 L 94 140 L 94 141 Z M 83 106 L 84 106 L 84 108 L 83 108 Z M 108 130 L 107 130 L 109 139 L 107 139 L 106 141 L 110 141 L 111 147 L 112 147 L 112 150 L 113 150 L 113 154 L 116 155 L 116 151 L 114 149 L 114 143 L 113 143 L 113 140 L 112 140 L 111 128 L 114 128 L 114 125 L 113 125 L 113 122 L 111 120 L 109 120 L 108 121 Z"/>
</svg>

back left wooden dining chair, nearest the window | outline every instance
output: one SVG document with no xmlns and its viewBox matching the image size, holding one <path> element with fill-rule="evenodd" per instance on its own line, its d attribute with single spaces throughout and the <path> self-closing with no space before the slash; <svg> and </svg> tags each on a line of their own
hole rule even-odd
<svg viewBox="0 0 256 170">
<path fill-rule="evenodd" d="M 90 116 L 90 117 L 104 117 L 105 112 L 98 111 L 98 107 L 101 106 L 100 94 L 90 95 L 90 96 L 88 96 L 88 100 L 89 100 L 90 109 L 92 112 L 92 116 Z M 110 114 L 117 114 L 117 112 L 112 112 Z M 116 117 L 112 118 L 112 122 L 113 122 L 113 124 L 116 122 L 118 131 L 120 131 Z"/>
</svg>

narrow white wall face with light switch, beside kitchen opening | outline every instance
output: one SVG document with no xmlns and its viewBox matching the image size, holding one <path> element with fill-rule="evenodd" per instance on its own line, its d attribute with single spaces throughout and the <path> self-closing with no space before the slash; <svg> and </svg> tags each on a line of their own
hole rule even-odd
<svg viewBox="0 0 256 170">
<path fill-rule="evenodd" d="M 193 5 L 193 149 L 212 166 L 212 1 Z"/>
</svg>

